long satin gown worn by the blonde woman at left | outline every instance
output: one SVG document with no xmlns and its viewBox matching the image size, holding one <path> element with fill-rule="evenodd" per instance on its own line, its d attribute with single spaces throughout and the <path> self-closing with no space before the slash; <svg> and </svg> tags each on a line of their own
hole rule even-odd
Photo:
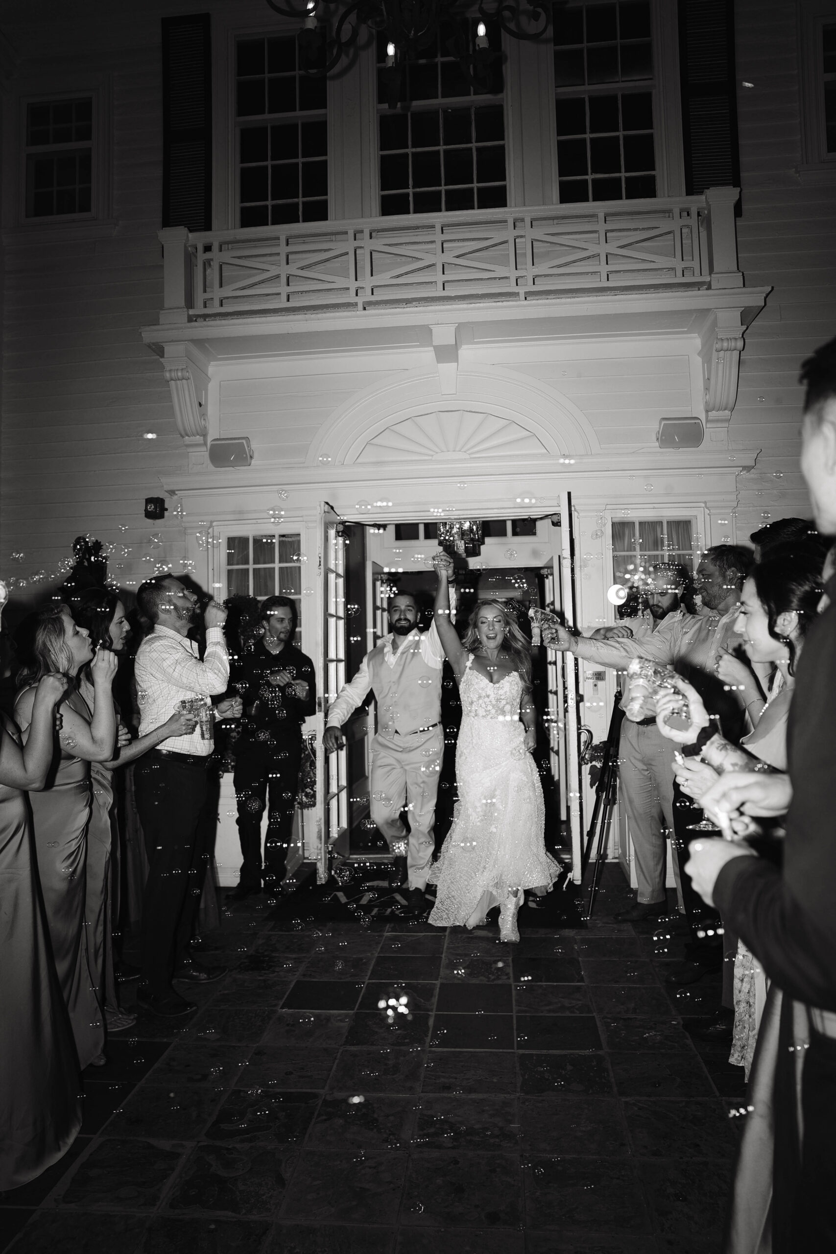
<svg viewBox="0 0 836 1254">
<path fill-rule="evenodd" d="M 66 701 L 73 711 L 90 721 L 90 714 L 74 692 Z M 26 730 L 28 725 L 23 725 Z M 104 1048 L 104 1016 L 97 996 L 97 974 L 88 948 L 86 851 L 91 813 L 90 766 L 71 756 L 71 745 L 61 745 L 43 793 L 29 798 L 46 909 L 53 957 L 64 1001 L 73 1025 L 79 1066 L 84 1070 Z"/>
</svg>

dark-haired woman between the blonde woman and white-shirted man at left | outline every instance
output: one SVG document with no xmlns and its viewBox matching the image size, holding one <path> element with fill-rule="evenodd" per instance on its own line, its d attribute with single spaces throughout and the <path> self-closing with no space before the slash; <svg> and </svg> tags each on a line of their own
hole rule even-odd
<svg viewBox="0 0 836 1254">
<path fill-rule="evenodd" d="M 124 652 L 130 627 L 125 607 L 117 592 L 93 589 L 83 593 L 73 607 L 73 617 L 79 627 L 89 633 L 94 646 L 109 648 L 117 657 Z M 94 691 L 89 665 L 83 667 L 79 675 L 79 692 L 88 707 L 91 707 Z M 149 735 L 132 740 L 120 720 L 115 701 L 114 716 L 118 725 L 115 752 L 107 762 L 90 764 L 93 809 L 88 828 L 86 856 L 88 947 L 95 988 L 104 1008 L 109 1033 L 124 1032 L 137 1021 L 135 1014 L 125 1013 L 119 1006 L 114 972 L 113 930 L 119 919 L 119 903 L 113 890 L 114 882 L 118 884 L 118 875 L 113 874 L 112 859 L 118 867 L 119 828 L 114 805 L 113 771 L 117 766 L 137 761 L 169 736 L 191 734 L 197 724 L 196 715 L 175 710 L 167 722 L 155 727 Z"/>
</svg>

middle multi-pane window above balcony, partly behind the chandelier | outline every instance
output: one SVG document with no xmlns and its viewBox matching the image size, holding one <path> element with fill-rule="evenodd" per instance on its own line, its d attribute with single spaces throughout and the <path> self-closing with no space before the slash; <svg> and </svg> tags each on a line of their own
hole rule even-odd
<svg viewBox="0 0 836 1254">
<path fill-rule="evenodd" d="M 469 78 L 450 53 L 474 48 L 475 20 L 442 30 L 426 54 L 402 70 L 397 109 L 386 107 L 386 36 L 377 41 L 381 212 L 440 213 L 508 203 L 503 69 L 496 56 L 484 79 Z M 501 33 L 488 23 L 489 51 Z M 409 103 L 409 108 L 404 108 Z"/>
</svg>

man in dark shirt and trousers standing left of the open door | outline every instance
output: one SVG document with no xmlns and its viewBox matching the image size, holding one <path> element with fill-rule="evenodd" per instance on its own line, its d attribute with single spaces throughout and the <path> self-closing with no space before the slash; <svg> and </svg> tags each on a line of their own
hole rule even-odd
<svg viewBox="0 0 836 1254">
<path fill-rule="evenodd" d="M 261 820 L 268 805 L 263 887 L 277 894 L 293 833 L 302 760 L 302 722 L 316 710 L 313 662 L 292 643 L 296 604 L 268 597 L 261 607 L 264 635 L 233 675 L 243 701 L 236 742 L 233 781 L 243 863 L 238 887 L 227 894 L 241 902 L 262 888 Z"/>
</svg>

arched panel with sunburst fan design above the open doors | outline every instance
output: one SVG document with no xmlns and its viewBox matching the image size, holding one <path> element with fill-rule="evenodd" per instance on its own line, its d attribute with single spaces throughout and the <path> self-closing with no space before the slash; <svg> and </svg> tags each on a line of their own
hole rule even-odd
<svg viewBox="0 0 836 1254">
<path fill-rule="evenodd" d="M 410 371 L 341 405 L 308 450 L 313 465 L 531 460 L 598 453 L 585 414 L 560 393 L 498 366 L 459 370 L 456 394 L 436 371 Z"/>
</svg>

